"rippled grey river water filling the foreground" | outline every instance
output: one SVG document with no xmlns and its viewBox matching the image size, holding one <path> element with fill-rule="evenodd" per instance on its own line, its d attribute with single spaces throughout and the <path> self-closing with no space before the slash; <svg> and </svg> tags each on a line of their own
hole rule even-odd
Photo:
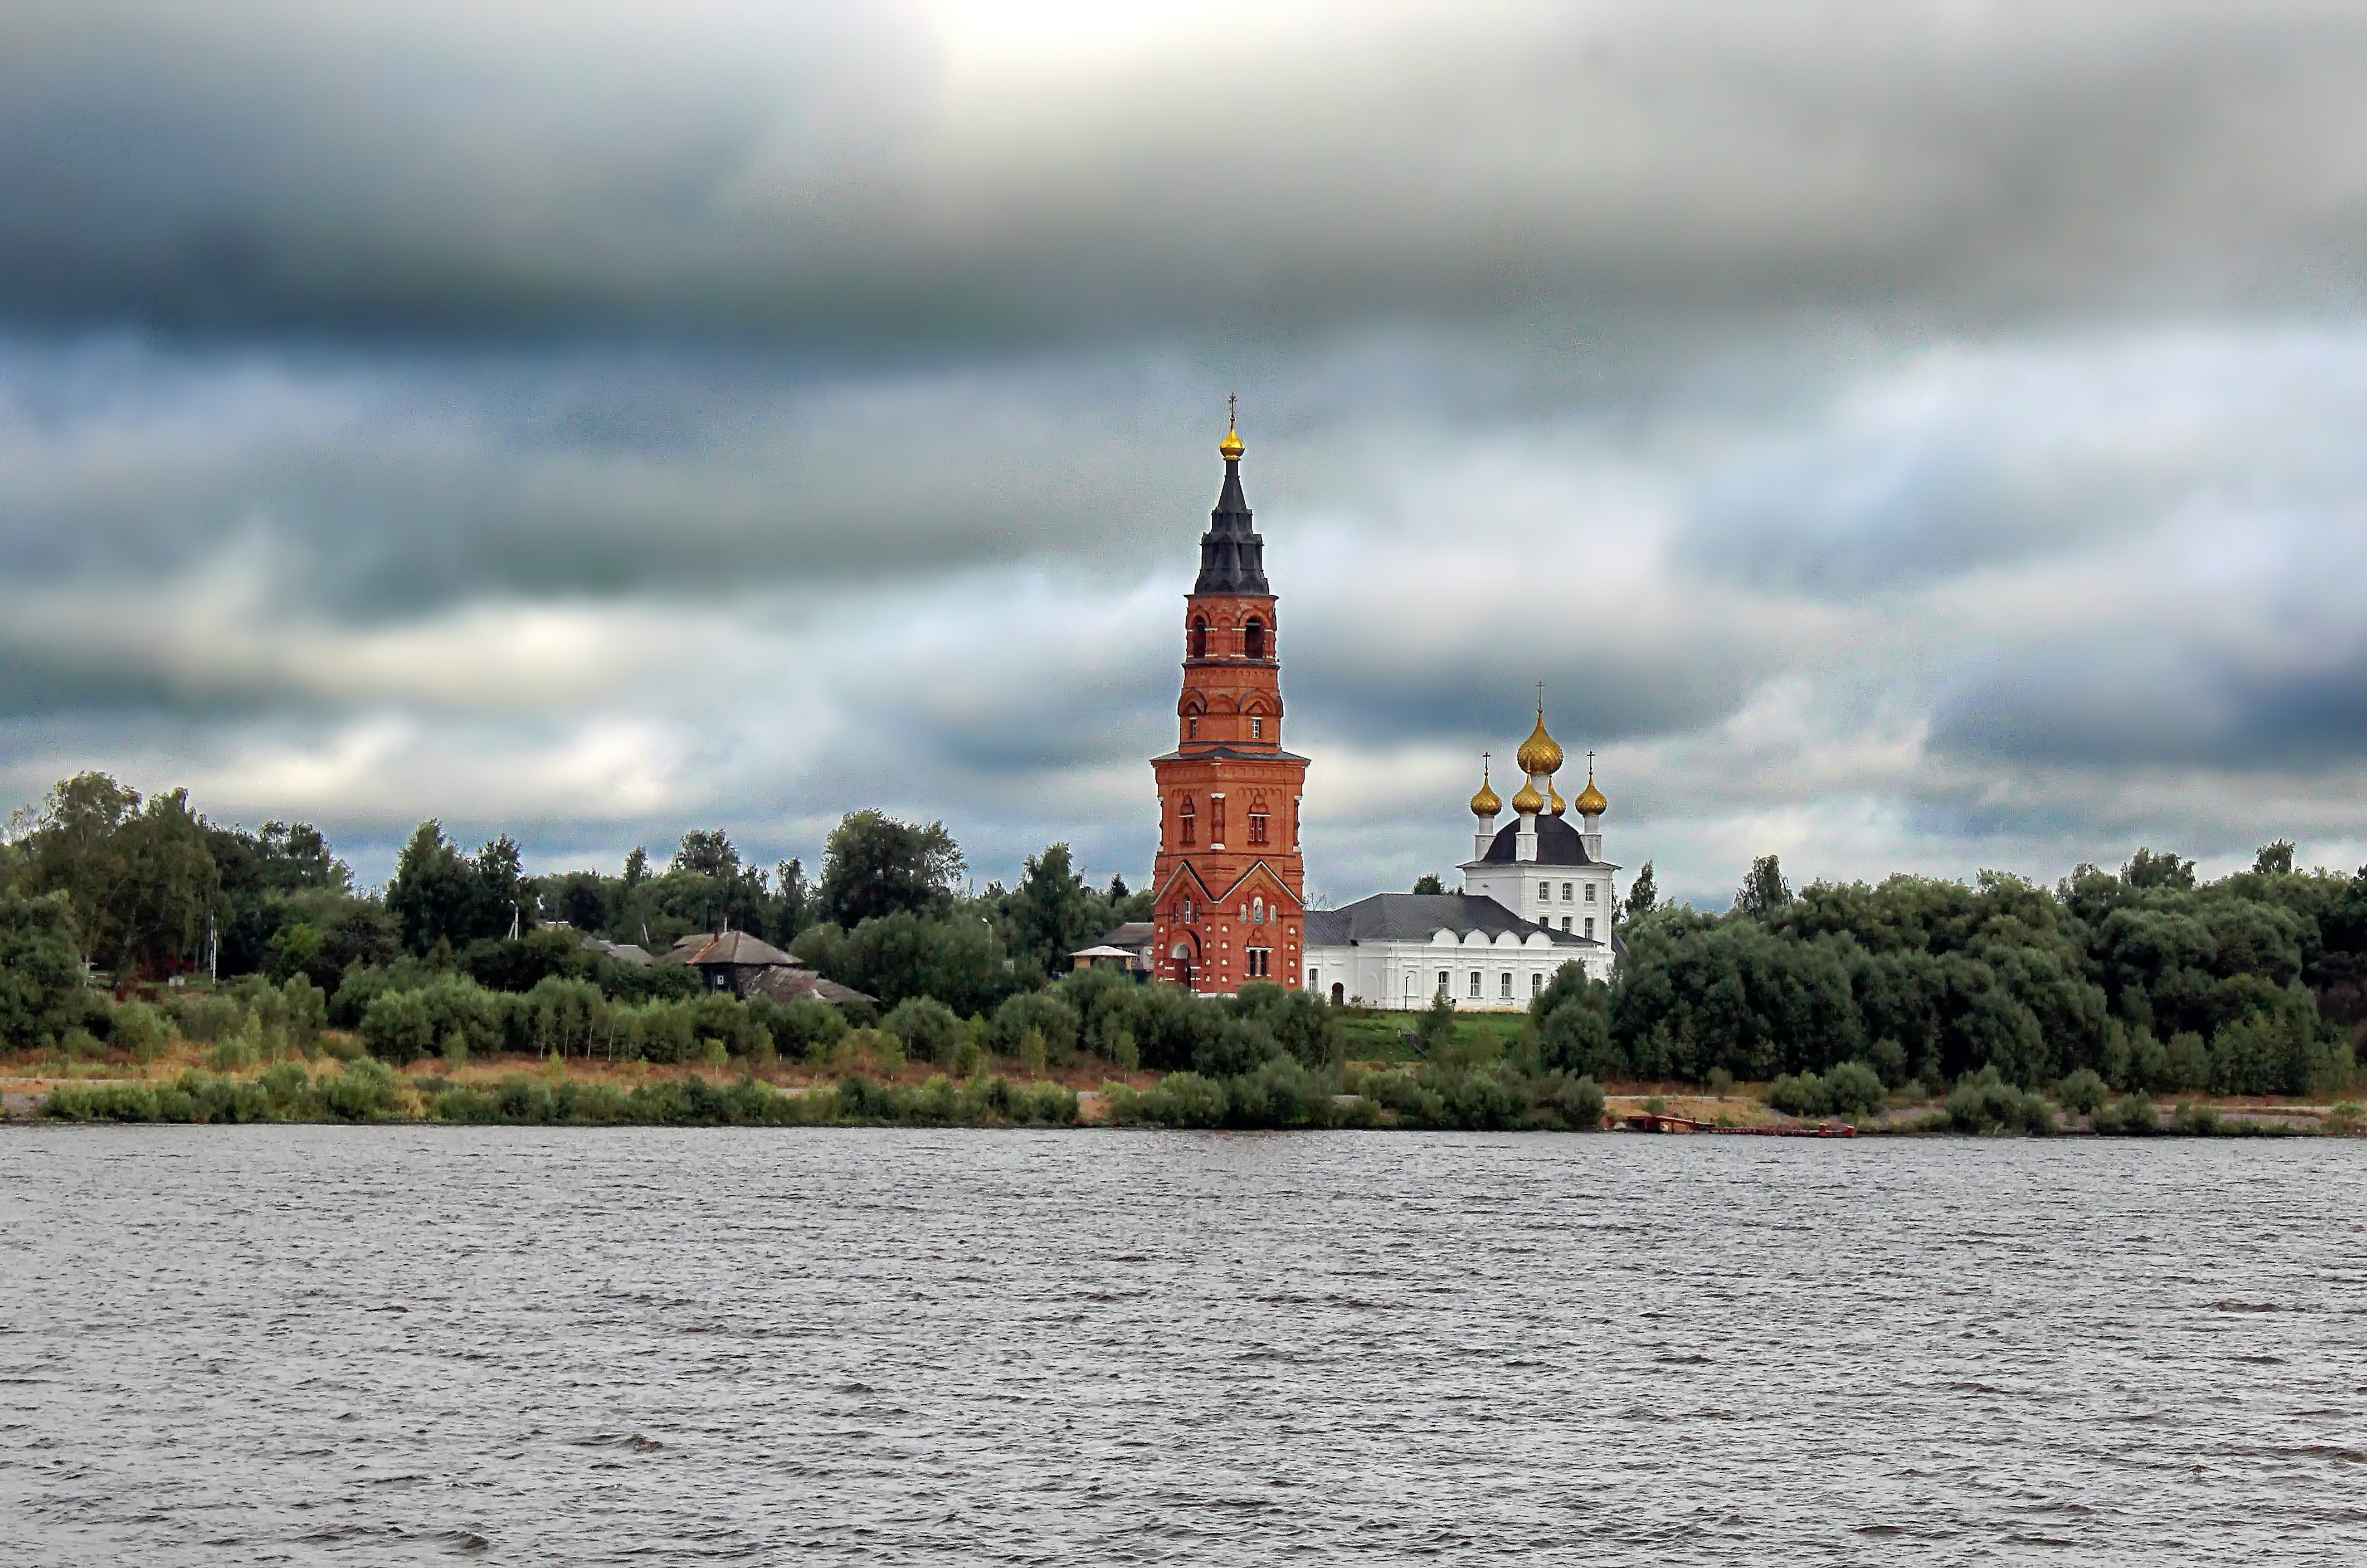
<svg viewBox="0 0 2367 1568">
<path fill-rule="evenodd" d="M 7 1563 L 2367 1559 L 2367 1144 L 9 1127 Z"/>
</svg>

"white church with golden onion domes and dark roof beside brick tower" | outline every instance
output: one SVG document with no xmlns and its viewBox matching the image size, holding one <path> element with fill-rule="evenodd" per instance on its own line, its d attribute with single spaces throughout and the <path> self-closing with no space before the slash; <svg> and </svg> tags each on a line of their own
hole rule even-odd
<svg viewBox="0 0 2367 1568">
<path fill-rule="evenodd" d="M 1562 964 L 1579 962 L 1598 981 L 1612 976 L 1621 947 L 1612 931 L 1619 867 L 1602 857 L 1610 801 L 1588 765 L 1576 798 L 1586 827 L 1565 822 L 1569 805 L 1553 789 L 1562 748 L 1546 734 L 1543 706 L 1517 760 L 1527 782 L 1513 796 L 1513 822 L 1501 829 L 1503 801 L 1482 772 L 1470 803 L 1479 829 L 1460 867 L 1460 893 L 1375 893 L 1342 910 L 1307 912 L 1307 990 L 1408 1011 L 1446 992 L 1456 1007 L 1515 1011 Z"/>
</svg>

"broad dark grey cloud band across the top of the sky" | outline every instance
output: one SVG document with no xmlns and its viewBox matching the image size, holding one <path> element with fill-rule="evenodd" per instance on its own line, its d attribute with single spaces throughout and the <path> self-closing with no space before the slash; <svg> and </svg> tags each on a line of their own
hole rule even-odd
<svg viewBox="0 0 2367 1568">
<path fill-rule="evenodd" d="M 17 5 L 0 313 L 883 348 L 1659 306 L 1984 324 L 2360 279 L 2358 14 L 1337 21 L 997 92 L 888 7 Z"/>
</svg>

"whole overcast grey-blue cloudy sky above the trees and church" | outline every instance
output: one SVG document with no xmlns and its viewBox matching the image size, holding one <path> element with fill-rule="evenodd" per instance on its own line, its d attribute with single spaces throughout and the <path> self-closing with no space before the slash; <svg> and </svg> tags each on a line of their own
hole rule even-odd
<svg viewBox="0 0 2367 1568">
<path fill-rule="evenodd" d="M 1139 881 L 1240 393 L 1318 895 L 1536 680 L 1704 905 L 2355 867 L 2360 81 L 2277 0 L 17 0 L 0 796 Z"/>
</svg>

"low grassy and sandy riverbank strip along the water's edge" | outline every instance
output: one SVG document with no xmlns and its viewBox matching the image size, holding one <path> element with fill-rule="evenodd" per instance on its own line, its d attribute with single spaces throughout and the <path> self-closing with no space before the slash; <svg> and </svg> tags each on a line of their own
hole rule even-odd
<svg viewBox="0 0 2367 1568">
<path fill-rule="evenodd" d="M 334 1042 L 341 1047 L 341 1042 Z M 151 1063 L 0 1063 L 9 1120 L 69 1123 L 454 1123 L 454 1125 L 937 1125 L 937 1127 L 1397 1127 L 1397 1130 L 1808 1130 L 1858 1135 L 2253 1135 L 2350 1137 L 2362 1108 L 2275 1097 L 2121 1097 L 2090 1113 L 2040 1094 L 1901 1094 L 1849 1118 L 1787 1116 L 1761 1085 L 1510 1080 L 1486 1068 L 1354 1061 L 1337 1073 L 1276 1063 L 1231 1080 L 1112 1073 L 1108 1063 L 1027 1073 L 987 1061 L 968 1075 L 871 1063 L 712 1068 L 533 1056 L 395 1068 L 346 1049 L 312 1061 L 208 1066 L 196 1052 Z M 1780 1099 L 1780 1094 L 1778 1094 Z M 1974 1106 L 1967 1111 L 1967 1104 Z"/>
</svg>

